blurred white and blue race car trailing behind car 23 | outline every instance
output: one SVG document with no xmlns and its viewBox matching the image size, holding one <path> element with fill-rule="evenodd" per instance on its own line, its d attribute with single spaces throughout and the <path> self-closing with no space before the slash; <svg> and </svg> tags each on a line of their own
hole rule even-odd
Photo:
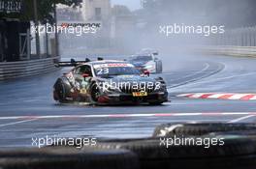
<svg viewBox="0 0 256 169">
<path fill-rule="evenodd" d="M 133 55 L 128 61 L 138 70 L 148 70 L 149 72 L 161 73 L 163 71 L 162 61 L 156 57 L 158 52 L 151 49 L 144 49 Z"/>
</svg>

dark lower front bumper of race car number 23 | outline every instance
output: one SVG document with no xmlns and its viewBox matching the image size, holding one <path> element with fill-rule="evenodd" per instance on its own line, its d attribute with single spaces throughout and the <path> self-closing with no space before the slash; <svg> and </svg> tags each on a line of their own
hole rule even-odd
<svg viewBox="0 0 256 169">
<path fill-rule="evenodd" d="M 146 97 L 133 97 L 132 94 L 109 94 L 101 96 L 98 101 L 105 104 L 166 102 L 168 101 L 168 92 L 149 93 Z"/>
</svg>

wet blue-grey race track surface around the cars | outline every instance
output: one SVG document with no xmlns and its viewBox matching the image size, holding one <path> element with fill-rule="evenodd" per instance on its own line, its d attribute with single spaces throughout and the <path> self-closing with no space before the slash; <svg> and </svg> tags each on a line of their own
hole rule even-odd
<svg viewBox="0 0 256 169">
<path fill-rule="evenodd" d="M 161 106 L 56 103 L 52 99 L 52 86 L 64 71 L 0 83 L 0 147 L 31 147 L 33 137 L 46 135 L 145 137 L 163 123 L 256 121 L 254 96 L 249 96 L 253 100 L 246 100 L 244 95 L 202 97 L 202 93 L 256 94 L 256 59 L 189 56 L 164 62 L 164 72 L 160 75 L 168 83 L 172 102 Z M 198 98 L 180 94 L 194 94 Z"/>
</svg>

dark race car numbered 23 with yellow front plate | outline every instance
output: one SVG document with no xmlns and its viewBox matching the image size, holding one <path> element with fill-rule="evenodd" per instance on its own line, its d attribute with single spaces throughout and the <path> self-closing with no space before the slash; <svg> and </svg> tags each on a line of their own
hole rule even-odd
<svg viewBox="0 0 256 169">
<path fill-rule="evenodd" d="M 90 104 L 162 104 L 168 101 L 166 83 L 161 77 L 142 73 L 124 61 L 103 60 L 59 62 L 56 67 L 74 67 L 53 86 L 53 99 L 59 102 Z"/>
</svg>

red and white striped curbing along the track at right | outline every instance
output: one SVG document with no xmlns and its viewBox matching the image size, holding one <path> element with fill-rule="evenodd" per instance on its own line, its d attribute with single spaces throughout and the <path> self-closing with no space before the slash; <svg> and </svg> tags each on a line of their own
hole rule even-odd
<svg viewBox="0 0 256 169">
<path fill-rule="evenodd" d="M 178 98 L 189 99 L 239 99 L 256 100 L 256 94 L 232 94 L 232 93 L 191 93 L 177 95 Z"/>
</svg>

